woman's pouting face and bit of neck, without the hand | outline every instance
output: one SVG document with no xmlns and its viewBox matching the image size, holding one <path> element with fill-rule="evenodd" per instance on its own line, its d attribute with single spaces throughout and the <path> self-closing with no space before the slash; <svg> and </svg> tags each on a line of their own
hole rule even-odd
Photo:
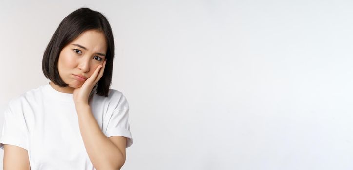
<svg viewBox="0 0 353 170">
<path fill-rule="evenodd" d="M 72 93 L 85 82 L 78 76 L 89 78 L 103 64 L 107 52 L 105 36 L 97 30 L 87 30 L 66 45 L 59 54 L 58 71 L 68 87 L 50 83 L 58 91 Z"/>
</svg>

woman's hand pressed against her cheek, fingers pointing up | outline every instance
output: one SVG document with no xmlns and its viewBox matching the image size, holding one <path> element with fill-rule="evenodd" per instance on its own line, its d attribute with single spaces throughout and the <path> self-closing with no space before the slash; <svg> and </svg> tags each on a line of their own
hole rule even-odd
<svg viewBox="0 0 353 170">
<path fill-rule="evenodd" d="M 75 105 L 76 104 L 87 104 L 88 105 L 88 98 L 96 83 L 99 79 L 103 76 L 105 63 L 107 60 L 105 59 L 103 65 L 99 65 L 96 70 L 93 72 L 91 77 L 85 80 L 83 85 L 79 88 L 75 88 L 72 94 L 74 99 Z"/>
</svg>

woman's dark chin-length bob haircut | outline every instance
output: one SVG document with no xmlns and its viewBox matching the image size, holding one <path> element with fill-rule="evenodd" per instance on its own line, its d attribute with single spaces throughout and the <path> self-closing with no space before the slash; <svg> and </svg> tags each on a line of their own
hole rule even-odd
<svg viewBox="0 0 353 170">
<path fill-rule="evenodd" d="M 114 60 L 114 38 L 112 28 L 107 18 L 90 8 L 79 8 L 65 17 L 53 34 L 48 46 L 45 49 L 42 70 L 46 78 L 50 79 L 60 87 L 67 87 L 61 77 L 57 67 L 57 62 L 61 50 L 81 33 L 87 30 L 101 31 L 107 40 L 106 64 L 103 76 L 92 90 L 100 96 L 108 96 L 109 87 L 112 82 L 113 60 Z M 91 94 L 92 94 L 91 92 Z"/>
</svg>

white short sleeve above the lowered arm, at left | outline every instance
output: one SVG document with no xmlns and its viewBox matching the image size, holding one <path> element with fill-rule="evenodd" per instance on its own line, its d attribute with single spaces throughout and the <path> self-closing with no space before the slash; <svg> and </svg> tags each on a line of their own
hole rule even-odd
<svg viewBox="0 0 353 170">
<path fill-rule="evenodd" d="M 4 112 L 4 123 L 0 138 L 1 149 L 4 149 L 4 144 L 16 145 L 28 150 L 27 130 L 23 114 L 14 113 L 9 106 Z"/>
</svg>

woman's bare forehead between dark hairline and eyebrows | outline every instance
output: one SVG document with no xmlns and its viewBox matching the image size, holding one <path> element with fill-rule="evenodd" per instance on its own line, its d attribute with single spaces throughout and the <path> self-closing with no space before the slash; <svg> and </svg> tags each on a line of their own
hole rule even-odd
<svg viewBox="0 0 353 170">
<path fill-rule="evenodd" d="M 78 35 L 70 45 L 79 44 L 86 47 L 88 51 L 104 52 L 107 51 L 107 42 L 103 32 L 97 30 L 87 30 Z"/>
</svg>

